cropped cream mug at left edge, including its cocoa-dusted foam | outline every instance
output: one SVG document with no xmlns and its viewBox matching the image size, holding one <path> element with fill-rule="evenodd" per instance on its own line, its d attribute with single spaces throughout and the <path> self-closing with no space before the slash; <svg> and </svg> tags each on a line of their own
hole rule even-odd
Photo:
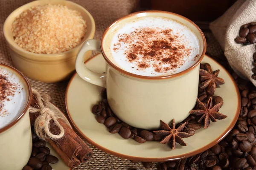
<svg viewBox="0 0 256 170">
<path fill-rule="evenodd" d="M 22 170 L 32 151 L 29 82 L 20 71 L 0 63 L 0 169 Z"/>
</svg>

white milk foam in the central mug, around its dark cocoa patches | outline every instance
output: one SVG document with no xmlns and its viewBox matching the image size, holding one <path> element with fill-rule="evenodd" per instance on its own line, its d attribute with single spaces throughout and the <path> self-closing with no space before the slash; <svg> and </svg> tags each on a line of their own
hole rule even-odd
<svg viewBox="0 0 256 170">
<path fill-rule="evenodd" d="M 136 39 L 136 36 L 134 35 L 134 31 L 140 31 L 142 29 L 148 29 L 152 28 L 156 30 L 155 35 L 152 34 L 152 36 L 145 38 L 144 40 L 138 40 Z M 154 62 L 151 59 L 146 60 L 146 63 L 144 62 L 143 55 L 136 54 L 137 55 L 137 62 L 131 62 L 129 61 L 127 54 L 129 51 L 131 51 L 131 46 L 138 44 L 138 42 L 143 41 L 143 43 L 151 43 L 154 40 L 157 40 L 159 38 L 166 39 L 168 37 L 163 36 L 161 33 L 161 30 L 171 30 L 171 35 L 174 37 L 174 40 L 170 43 L 172 43 L 172 47 L 179 46 L 177 48 L 180 49 L 180 46 L 184 45 L 186 48 L 186 53 L 184 53 L 184 56 L 182 62 L 175 68 L 172 64 L 166 64 L 163 63 L 158 59 L 157 62 Z M 127 36 L 127 35 L 131 36 Z M 136 33 L 135 33 L 136 34 Z M 146 34 L 145 34 L 146 35 Z M 120 37 L 124 38 L 126 36 L 131 38 L 131 41 L 126 42 L 120 42 Z M 155 38 L 154 38 L 155 37 Z M 141 38 L 141 37 L 140 37 Z M 167 39 L 166 39 L 167 40 Z M 187 26 L 183 25 L 182 23 L 179 23 L 176 20 L 168 19 L 165 17 L 140 17 L 137 20 L 131 20 L 130 22 L 127 22 L 125 26 L 122 28 L 118 28 L 116 33 L 113 36 L 113 40 L 111 42 L 111 54 L 114 60 L 114 63 L 122 68 L 125 71 L 128 71 L 133 74 L 137 75 L 143 75 L 143 76 L 164 76 L 164 75 L 170 75 L 170 74 L 176 74 L 181 71 L 184 71 L 191 67 L 195 62 L 198 61 L 199 57 L 199 45 L 200 42 L 198 40 L 198 37 L 195 35 L 195 33 L 188 28 Z M 165 48 L 165 47 L 163 47 Z M 162 54 L 160 57 L 167 57 L 169 55 L 169 52 L 166 54 Z M 181 53 L 179 54 L 181 55 Z M 159 57 L 159 55 L 154 55 L 154 57 Z M 153 57 L 153 58 L 154 58 Z M 172 57 L 177 57 L 175 54 L 172 54 Z M 148 65 L 148 67 L 139 67 L 138 63 L 145 63 Z M 159 71 L 156 69 L 156 65 L 162 66 L 162 71 Z M 172 65 L 170 68 L 169 66 Z M 169 69 L 169 70 L 168 70 Z"/>
</svg>

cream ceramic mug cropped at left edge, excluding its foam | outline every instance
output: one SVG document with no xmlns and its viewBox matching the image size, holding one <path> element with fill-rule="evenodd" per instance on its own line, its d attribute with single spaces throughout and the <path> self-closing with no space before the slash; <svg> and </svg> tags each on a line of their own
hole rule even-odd
<svg viewBox="0 0 256 170">
<path fill-rule="evenodd" d="M 29 119 L 29 105 L 32 100 L 31 87 L 26 77 L 15 68 L 0 63 L 0 69 L 5 69 L 19 77 L 20 83 L 24 86 L 23 91 L 26 93 L 26 97 L 23 98 L 24 107 L 20 108 L 20 113 L 9 124 L 0 128 L 0 169 L 22 170 L 28 163 L 32 151 Z"/>
</svg>

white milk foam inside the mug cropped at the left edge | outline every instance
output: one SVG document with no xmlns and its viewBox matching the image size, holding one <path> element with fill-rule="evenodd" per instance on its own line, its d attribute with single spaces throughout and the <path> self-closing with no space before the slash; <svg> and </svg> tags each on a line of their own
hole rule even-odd
<svg viewBox="0 0 256 170">
<path fill-rule="evenodd" d="M 15 72 L 0 65 L 0 76 L 6 77 L 13 86 L 12 95 L 5 95 L 0 101 L 0 129 L 13 122 L 23 111 L 28 101 L 28 94 L 23 79 L 20 79 Z M 3 82 L 3 79 L 2 79 Z M 15 88 L 17 87 L 17 88 Z M 1 87 L 0 87 L 1 89 Z M 0 91 L 0 95 L 3 91 Z"/>
</svg>

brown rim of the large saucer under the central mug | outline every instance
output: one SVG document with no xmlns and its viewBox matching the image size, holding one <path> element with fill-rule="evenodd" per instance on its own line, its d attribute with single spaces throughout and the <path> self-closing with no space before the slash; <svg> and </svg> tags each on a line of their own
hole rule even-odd
<svg viewBox="0 0 256 170">
<path fill-rule="evenodd" d="M 89 62 L 91 59 L 93 59 L 94 57 L 97 57 L 99 54 L 91 57 L 90 59 L 88 59 L 85 64 L 87 62 Z M 208 55 L 205 55 L 206 57 L 209 57 Z M 211 57 L 209 57 L 210 59 L 212 59 Z M 212 59 L 213 62 L 217 62 L 215 61 L 214 59 Z M 233 84 L 235 85 L 235 88 L 236 88 L 236 94 L 238 96 L 238 104 L 237 104 L 237 109 L 236 109 L 236 115 L 233 117 L 233 120 L 232 122 L 230 123 L 230 125 L 227 127 L 226 130 L 223 131 L 223 133 L 221 133 L 218 138 L 216 138 L 215 140 L 213 140 L 211 143 L 205 145 L 204 147 L 201 147 L 200 149 L 198 150 L 195 150 L 195 151 L 192 151 L 192 152 L 189 152 L 189 153 L 186 153 L 186 154 L 183 154 L 183 155 L 177 155 L 177 156 L 169 156 L 169 157 L 165 157 L 165 158 L 143 158 L 143 157 L 135 157 L 135 156 L 128 156 L 128 155 L 124 155 L 124 154 L 121 154 L 121 153 L 117 153 L 117 152 L 114 152 L 112 150 L 109 150 L 105 147 L 102 147 L 100 146 L 99 144 L 93 142 L 93 140 L 91 140 L 90 138 L 88 138 L 87 136 L 84 135 L 84 133 L 81 132 L 81 130 L 79 129 L 79 127 L 76 126 L 76 124 L 74 123 L 72 117 L 70 116 L 70 113 L 69 113 L 69 109 L 68 109 L 68 106 L 67 106 L 67 92 L 69 91 L 69 88 L 70 88 L 70 84 L 71 82 L 73 81 L 74 77 L 76 76 L 77 73 L 75 73 L 71 79 L 70 79 L 70 82 L 68 83 L 67 85 L 67 91 L 66 91 L 66 96 L 65 96 L 65 105 L 66 105 L 66 109 L 67 109 L 67 117 L 70 121 L 70 124 L 73 126 L 73 128 L 79 133 L 79 135 L 85 140 L 87 141 L 88 143 L 92 144 L 93 146 L 95 146 L 96 148 L 98 148 L 99 150 L 102 150 L 106 153 L 109 153 L 113 156 L 117 156 L 119 158 L 123 158 L 123 159 L 128 159 L 128 160 L 134 160 L 134 161 L 145 161 L 145 162 L 160 162 L 160 161 L 174 161 L 174 160 L 177 160 L 177 159 L 183 159 L 183 158 L 187 158 L 187 157 L 190 157 L 190 156 L 194 156 L 198 153 L 201 153 L 201 152 L 204 152 L 205 150 L 213 147 L 215 144 L 217 144 L 218 142 L 220 142 L 222 139 L 224 139 L 224 137 L 227 136 L 228 133 L 230 133 L 230 131 L 233 129 L 233 127 L 236 125 L 236 120 L 238 119 L 239 117 L 239 114 L 240 114 L 240 108 L 241 108 L 241 97 L 240 97 L 240 93 L 239 93 L 239 89 L 236 85 L 236 82 L 235 80 L 233 79 L 233 77 L 230 75 L 230 73 L 222 66 L 220 65 L 218 62 L 217 62 L 218 66 L 223 68 L 224 71 L 228 74 L 228 76 L 230 77 L 230 79 L 232 80 Z M 88 113 L 89 114 L 89 113 Z M 131 140 L 131 139 L 127 139 L 127 140 Z"/>
</svg>

